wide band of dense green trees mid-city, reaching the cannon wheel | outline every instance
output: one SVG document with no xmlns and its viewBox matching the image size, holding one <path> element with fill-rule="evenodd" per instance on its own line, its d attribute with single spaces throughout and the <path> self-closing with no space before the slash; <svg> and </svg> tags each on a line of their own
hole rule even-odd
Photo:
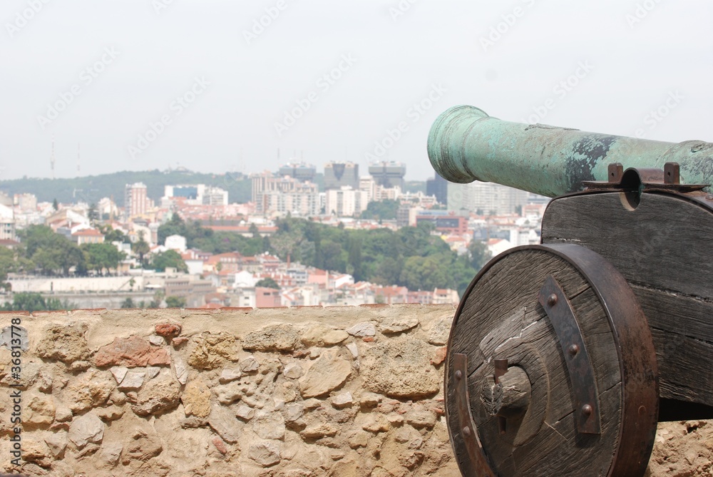
<svg viewBox="0 0 713 477">
<path fill-rule="evenodd" d="M 431 235 L 431 225 L 402 227 L 394 232 L 346 230 L 344 227 L 287 218 L 277 221 L 277 233 L 251 238 L 233 232 L 214 232 L 200 222 L 185 222 L 178 215 L 161 225 L 158 241 L 169 235 L 186 237 L 188 247 L 205 252 L 240 252 L 250 256 L 272 252 L 284 261 L 301 262 L 324 270 L 349 273 L 354 279 L 376 284 L 398 284 L 411 290 L 457 289 L 468 283 L 488 261 L 482 242 L 473 241 L 468 255 L 458 256 L 441 237 Z"/>
</svg>

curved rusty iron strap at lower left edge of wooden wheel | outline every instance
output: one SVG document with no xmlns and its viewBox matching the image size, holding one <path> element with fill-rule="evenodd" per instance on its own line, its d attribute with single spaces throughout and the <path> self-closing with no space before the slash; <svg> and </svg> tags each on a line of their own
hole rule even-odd
<svg viewBox="0 0 713 477">
<path fill-rule="evenodd" d="M 453 354 L 453 376 L 456 379 L 456 409 L 458 409 L 458 422 L 461 424 L 461 438 L 468 449 L 476 475 L 483 477 L 496 477 L 488 463 L 488 458 L 483 452 L 483 446 L 478 438 L 478 429 L 471 414 L 471 398 L 468 393 L 468 357 L 465 354 Z"/>
</svg>

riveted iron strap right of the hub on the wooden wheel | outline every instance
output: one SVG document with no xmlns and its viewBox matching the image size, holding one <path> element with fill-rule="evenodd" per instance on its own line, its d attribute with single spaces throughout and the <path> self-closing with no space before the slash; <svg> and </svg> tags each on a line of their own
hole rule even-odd
<svg viewBox="0 0 713 477">
<path fill-rule="evenodd" d="M 551 275 L 545 279 L 538 302 L 550 317 L 550 323 L 562 346 L 572 384 L 577 431 L 580 434 L 602 434 L 597 381 L 594 378 L 592 362 L 572 305 L 560 284 Z"/>
</svg>

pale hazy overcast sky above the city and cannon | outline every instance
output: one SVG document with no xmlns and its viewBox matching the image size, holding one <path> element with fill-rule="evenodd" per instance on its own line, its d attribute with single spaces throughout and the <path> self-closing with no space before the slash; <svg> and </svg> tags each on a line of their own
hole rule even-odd
<svg viewBox="0 0 713 477">
<path fill-rule="evenodd" d="M 711 1 L 3 0 L 0 21 L 0 179 L 50 177 L 54 135 L 57 177 L 78 143 L 81 175 L 366 173 L 382 143 L 423 180 L 431 123 L 463 103 L 713 141 Z"/>
</svg>

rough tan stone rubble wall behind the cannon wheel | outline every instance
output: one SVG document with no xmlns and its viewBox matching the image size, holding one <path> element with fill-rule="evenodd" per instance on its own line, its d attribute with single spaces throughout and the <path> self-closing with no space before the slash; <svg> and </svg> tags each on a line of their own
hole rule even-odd
<svg viewBox="0 0 713 477">
<path fill-rule="evenodd" d="M 21 387 L 12 386 L 14 358 L 0 347 L 0 471 L 456 476 L 441 391 L 453 312 L 366 305 L 0 314 L 0 344 L 11 343 L 11 322 L 27 330 Z M 17 393 L 21 468 L 11 466 Z M 650 475 L 711 475 L 696 473 L 711 468 L 705 424 L 663 428 Z M 685 439 L 697 446 L 676 456 Z"/>
</svg>

